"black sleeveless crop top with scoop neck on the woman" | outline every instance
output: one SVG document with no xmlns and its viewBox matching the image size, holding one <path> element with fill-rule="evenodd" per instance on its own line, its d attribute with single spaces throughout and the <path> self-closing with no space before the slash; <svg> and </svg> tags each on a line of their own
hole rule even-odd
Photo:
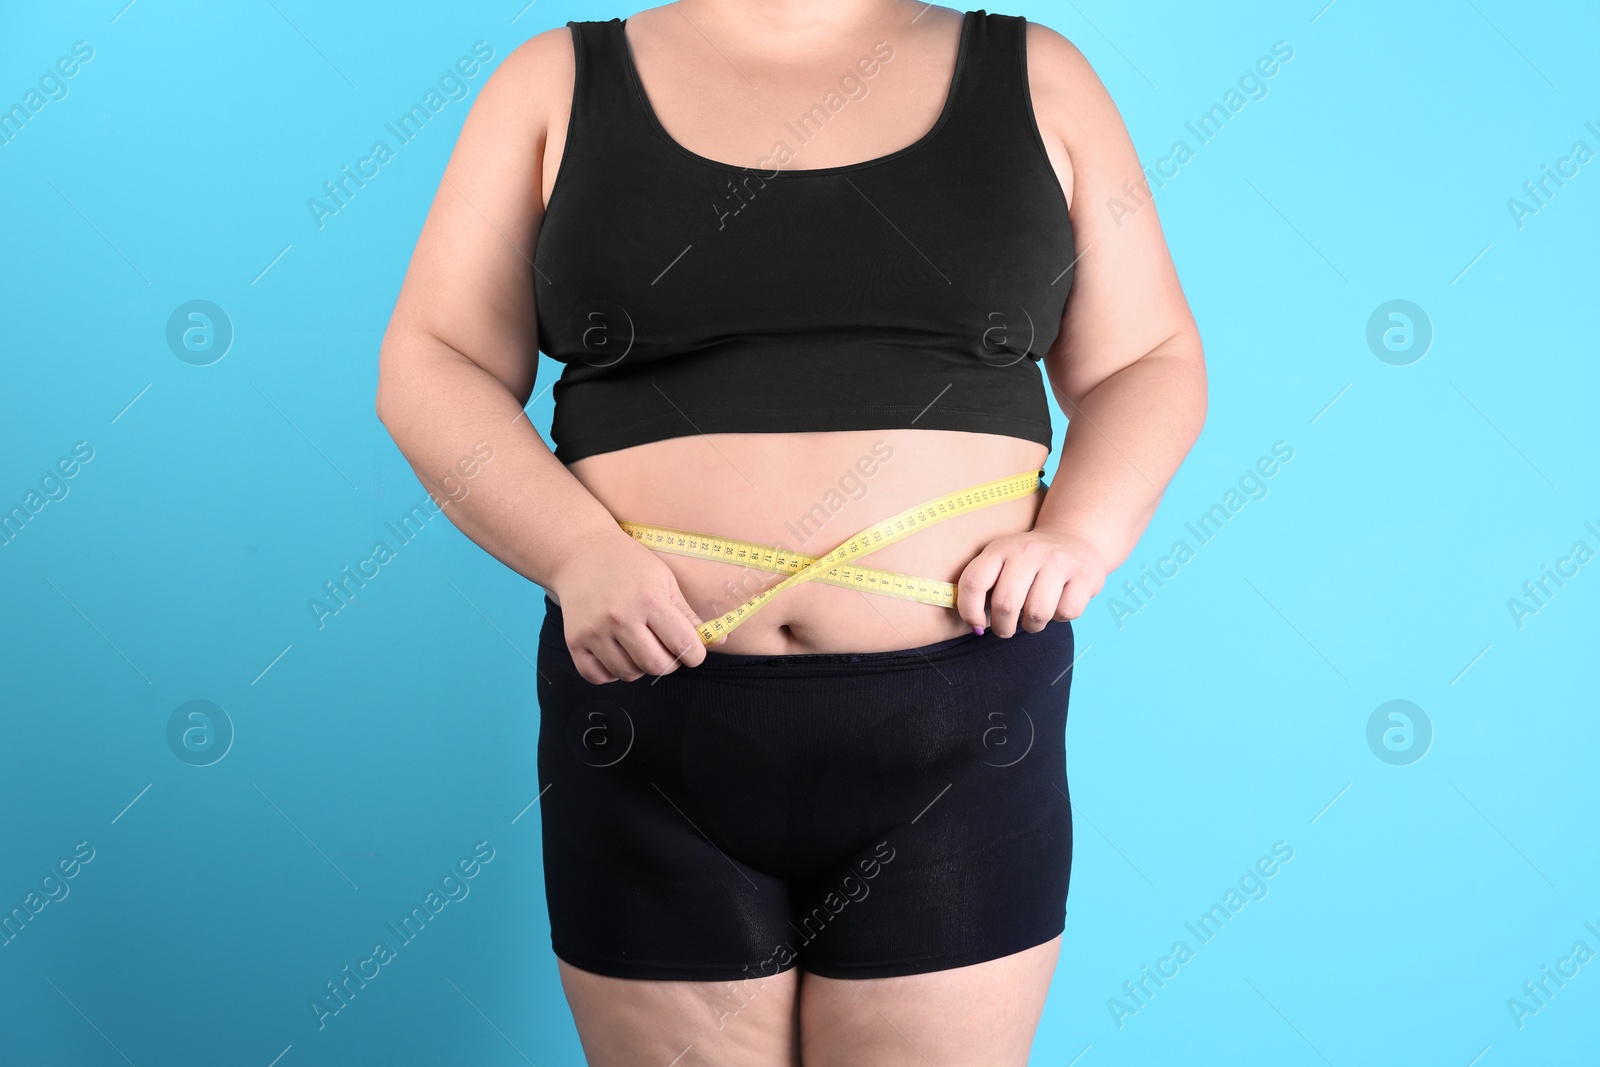
<svg viewBox="0 0 1600 1067">
<path fill-rule="evenodd" d="M 533 261 L 539 349 L 563 363 L 557 459 L 688 434 L 906 427 L 1048 450 L 1040 360 L 1074 240 L 1026 24 L 965 13 L 944 109 L 915 142 L 792 170 L 803 139 L 861 106 L 891 46 L 746 168 L 667 134 L 622 19 L 568 22 L 573 110 Z"/>
</svg>

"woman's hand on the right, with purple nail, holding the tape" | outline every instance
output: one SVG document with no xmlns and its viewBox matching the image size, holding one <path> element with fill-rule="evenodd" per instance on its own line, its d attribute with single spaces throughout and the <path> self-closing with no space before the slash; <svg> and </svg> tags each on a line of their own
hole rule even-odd
<svg viewBox="0 0 1600 1067">
<path fill-rule="evenodd" d="M 1106 550 L 1075 530 L 1029 530 L 990 541 L 962 571 L 955 609 L 974 630 L 1037 633 L 1077 619 L 1106 585 Z M 984 617 L 984 597 L 989 611 Z"/>
</svg>

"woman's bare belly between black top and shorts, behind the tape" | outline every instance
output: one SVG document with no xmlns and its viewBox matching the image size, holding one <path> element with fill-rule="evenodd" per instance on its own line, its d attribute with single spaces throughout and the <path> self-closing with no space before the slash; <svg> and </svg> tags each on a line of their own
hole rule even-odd
<svg viewBox="0 0 1600 1067">
<path fill-rule="evenodd" d="M 691 530 L 822 555 L 858 530 L 923 501 L 1043 466 L 1035 442 L 960 430 L 699 434 L 570 464 L 618 520 Z M 866 566 L 946 582 L 989 541 L 1032 530 L 1045 499 L 990 504 L 867 557 Z M 712 619 L 784 576 L 661 553 L 683 598 Z M 822 582 L 770 600 L 709 654 L 885 651 L 930 645 L 970 627 L 950 608 Z"/>
</svg>

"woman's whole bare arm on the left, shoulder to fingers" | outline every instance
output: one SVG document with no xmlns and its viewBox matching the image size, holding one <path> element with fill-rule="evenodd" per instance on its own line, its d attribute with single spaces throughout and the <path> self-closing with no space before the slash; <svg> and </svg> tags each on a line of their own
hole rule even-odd
<svg viewBox="0 0 1600 1067">
<path fill-rule="evenodd" d="M 525 42 L 485 82 L 384 333 L 376 406 L 450 520 L 549 590 L 579 673 L 602 683 L 698 665 L 706 646 L 672 571 L 523 414 L 539 363 L 533 250 L 544 147 L 552 125 L 565 134 L 558 102 L 571 88 L 565 26 Z"/>
</svg>

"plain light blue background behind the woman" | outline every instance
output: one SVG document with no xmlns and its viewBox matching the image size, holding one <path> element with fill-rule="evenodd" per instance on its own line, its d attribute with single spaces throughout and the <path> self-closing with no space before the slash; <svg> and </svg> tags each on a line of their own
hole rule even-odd
<svg viewBox="0 0 1600 1067">
<path fill-rule="evenodd" d="M 0 504 L 94 450 L 0 549 L 0 905 L 94 848 L 0 949 L 0 1059 L 578 1064 L 528 808 L 541 590 L 435 520 L 325 629 L 306 606 L 424 499 L 373 414 L 378 342 L 486 74 L 323 229 L 306 200 L 474 42 L 496 66 L 629 10 L 123 3 L 0 16 L 0 104 L 94 48 L 0 146 Z M 1600 960 L 1523 1027 L 1507 1009 L 1600 950 L 1600 561 L 1520 627 L 1507 608 L 1600 550 L 1600 162 L 1522 227 L 1507 210 L 1600 149 L 1594 5 L 997 10 L 1090 56 L 1147 163 L 1294 48 L 1157 194 L 1211 410 L 1077 624 L 1035 1062 L 1595 1062 Z M 237 331 L 211 366 L 166 347 L 190 299 Z M 1366 344 L 1390 299 L 1432 323 L 1421 362 Z M 1274 442 L 1294 453 L 1267 496 L 1118 625 L 1122 582 Z M 237 731 L 208 768 L 168 749 L 190 699 Z M 1366 741 L 1392 699 L 1434 731 L 1405 766 Z M 323 982 L 480 840 L 470 896 L 318 1030 Z M 1280 840 L 1269 896 L 1197 947 L 1184 923 Z M 1195 958 L 1118 1027 L 1107 1001 L 1179 937 Z"/>
</svg>

